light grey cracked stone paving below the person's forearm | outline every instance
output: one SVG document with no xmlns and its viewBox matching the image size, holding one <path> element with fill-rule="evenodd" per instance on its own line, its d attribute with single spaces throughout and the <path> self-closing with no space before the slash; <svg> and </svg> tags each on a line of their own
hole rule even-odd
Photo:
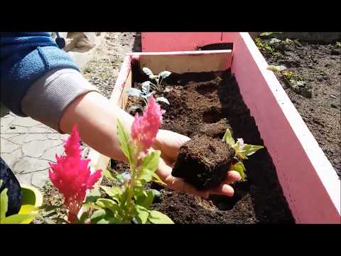
<svg viewBox="0 0 341 256">
<path fill-rule="evenodd" d="M 9 113 L 1 118 L 0 155 L 20 183 L 43 188 L 48 162 L 55 162 L 55 154 L 63 153 L 67 136 L 30 117 Z"/>
</svg>

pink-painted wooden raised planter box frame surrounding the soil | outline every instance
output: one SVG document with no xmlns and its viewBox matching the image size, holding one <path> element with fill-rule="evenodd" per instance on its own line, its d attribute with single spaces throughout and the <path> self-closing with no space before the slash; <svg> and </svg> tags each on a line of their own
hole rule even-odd
<svg viewBox="0 0 341 256">
<path fill-rule="evenodd" d="M 232 50 L 129 53 L 112 92 L 112 104 L 126 105 L 131 63 L 139 61 L 154 73 L 224 70 L 231 67 L 239 90 L 256 120 L 264 145 L 276 166 L 278 180 L 296 223 L 340 223 L 340 180 L 313 134 L 289 100 L 248 33 L 223 33 Z M 158 40 L 166 40 L 158 38 Z M 160 41 L 158 41 L 160 43 Z M 92 164 L 106 168 L 107 156 L 90 151 Z"/>
</svg>

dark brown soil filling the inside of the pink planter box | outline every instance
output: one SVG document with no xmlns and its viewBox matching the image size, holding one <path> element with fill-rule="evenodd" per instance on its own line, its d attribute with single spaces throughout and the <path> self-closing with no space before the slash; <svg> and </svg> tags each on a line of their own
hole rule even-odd
<svg viewBox="0 0 341 256">
<path fill-rule="evenodd" d="M 135 74 L 134 80 L 134 86 L 139 87 L 139 82 L 146 78 L 138 78 Z M 206 134 L 222 139 L 228 127 L 234 138 L 263 145 L 254 118 L 250 116 L 230 70 L 223 73 L 173 73 L 167 78 L 165 87 L 171 87 L 171 91 L 160 95 L 167 97 L 171 105 L 163 105 L 166 114 L 162 129 L 191 138 Z M 163 199 L 160 203 L 153 203 L 152 208 L 166 213 L 175 223 L 293 223 L 266 148 L 257 151 L 244 164 L 247 180 L 232 184 L 235 191 L 232 198 L 211 196 L 205 200 L 158 188 Z"/>
</svg>

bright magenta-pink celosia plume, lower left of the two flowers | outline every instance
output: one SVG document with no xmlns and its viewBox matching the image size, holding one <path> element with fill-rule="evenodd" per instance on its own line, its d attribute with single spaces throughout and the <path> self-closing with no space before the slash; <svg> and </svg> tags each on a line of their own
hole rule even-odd
<svg viewBox="0 0 341 256">
<path fill-rule="evenodd" d="M 64 195 L 64 204 L 69 210 L 68 218 L 72 223 L 82 207 L 87 189 L 91 189 L 102 176 L 102 170 L 91 174 L 87 165 L 90 159 L 81 159 L 80 135 L 77 126 L 64 144 L 65 155 L 57 156 L 57 164 L 50 164 L 49 176 L 53 185 Z"/>
</svg>

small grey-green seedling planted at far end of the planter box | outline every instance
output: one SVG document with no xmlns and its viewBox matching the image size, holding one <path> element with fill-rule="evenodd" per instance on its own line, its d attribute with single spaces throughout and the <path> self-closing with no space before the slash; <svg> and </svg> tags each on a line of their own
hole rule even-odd
<svg viewBox="0 0 341 256">
<path fill-rule="evenodd" d="M 142 82 L 141 90 L 136 89 L 136 88 L 129 88 L 128 90 L 126 90 L 126 95 L 138 97 L 139 99 L 142 100 L 142 102 L 144 102 L 144 105 L 146 106 L 149 98 L 156 92 L 160 91 L 160 85 L 162 84 L 164 79 L 168 78 L 168 76 L 171 75 L 171 72 L 165 70 L 159 73 L 158 75 L 154 75 L 153 72 L 149 68 L 143 68 L 142 70 L 144 70 L 144 73 L 148 75 L 149 79 L 155 81 L 155 83 L 151 81 Z M 154 90 L 151 90 L 151 89 L 154 89 Z M 166 103 L 167 105 L 170 105 L 166 97 L 156 97 L 155 100 L 156 102 L 163 102 L 163 103 Z M 142 109 L 143 109 L 143 106 L 136 105 L 136 106 L 130 107 L 128 112 L 134 112 L 136 110 L 142 110 Z"/>
</svg>

